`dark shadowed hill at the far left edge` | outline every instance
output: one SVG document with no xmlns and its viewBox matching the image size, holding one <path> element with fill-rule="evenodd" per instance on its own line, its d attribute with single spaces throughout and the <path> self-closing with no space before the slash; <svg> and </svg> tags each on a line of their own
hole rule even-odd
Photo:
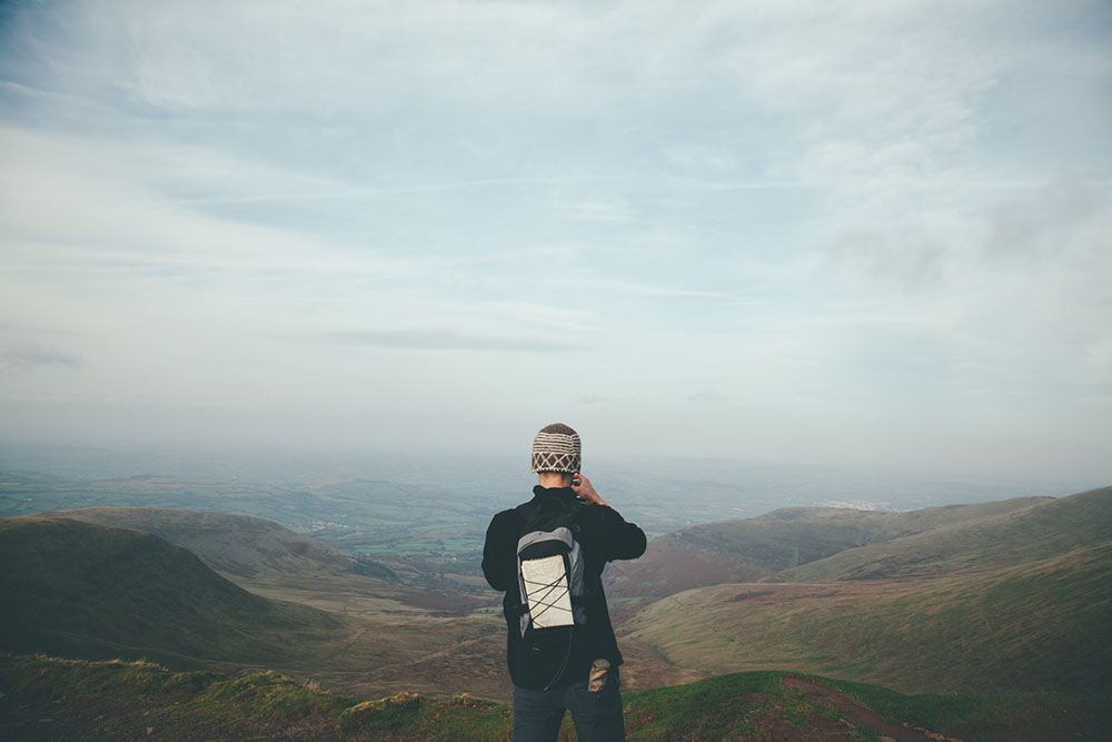
<svg viewBox="0 0 1112 742">
<path fill-rule="evenodd" d="M 342 619 L 269 601 L 147 533 L 69 518 L 0 520 L 0 649 L 80 657 L 282 663 Z"/>
</svg>

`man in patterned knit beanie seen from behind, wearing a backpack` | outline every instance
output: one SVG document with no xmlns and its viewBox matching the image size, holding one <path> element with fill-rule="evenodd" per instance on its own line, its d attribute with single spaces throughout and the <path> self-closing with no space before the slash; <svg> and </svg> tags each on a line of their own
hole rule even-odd
<svg viewBox="0 0 1112 742">
<path fill-rule="evenodd" d="M 483 574 L 492 587 L 506 593 L 506 660 L 514 682 L 517 742 L 555 740 L 567 709 L 582 742 L 625 739 L 617 670 L 622 653 L 610 625 L 602 574 L 607 562 L 644 554 L 645 534 L 603 501 L 590 479 L 579 473 L 579 435 L 570 427 L 555 423 L 537 433 L 533 473 L 538 484 L 533 499 L 495 515 L 483 547 Z M 560 573 L 557 578 L 578 561 L 579 590 L 578 573 L 572 568 L 576 573 L 572 586 L 560 582 L 564 587 L 555 597 L 548 590 L 542 600 L 540 593 L 526 586 L 523 600 L 522 585 L 527 577 L 522 577 L 525 567 L 519 564 L 525 562 L 518 561 L 519 541 L 527 544 L 544 527 L 524 538 L 523 530 L 553 523 L 552 518 L 575 534 L 579 550 L 556 567 Z M 545 535 L 555 532 L 553 528 Z"/>
</svg>

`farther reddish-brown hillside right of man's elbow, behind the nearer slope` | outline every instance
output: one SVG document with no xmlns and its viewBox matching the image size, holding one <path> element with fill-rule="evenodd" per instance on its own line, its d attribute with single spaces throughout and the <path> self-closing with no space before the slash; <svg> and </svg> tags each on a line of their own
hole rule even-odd
<svg viewBox="0 0 1112 742">
<path fill-rule="evenodd" d="M 1023 497 L 910 513 L 791 507 L 756 518 L 693 526 L 654 538 L 636 562 L 613 565 L 608 592 L 618 597 L 661 597 L 705 585 L 756 582 L 847 550 L 1050 502 L 1050 497 Z"/>
</svg>

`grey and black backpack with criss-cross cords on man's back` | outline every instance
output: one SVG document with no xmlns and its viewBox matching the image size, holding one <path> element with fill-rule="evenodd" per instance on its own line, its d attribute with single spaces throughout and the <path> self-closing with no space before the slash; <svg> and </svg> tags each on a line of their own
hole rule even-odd
<svg viewBox="0 0 1112 742">
<path fill-rule="evenodd" d="M 578 502 L 547 498 L 515 509 L 522 517 L 517 541 L 517 584 L 522 636 L 533 631 L 587 623 L 587 594 Z"/>
</svg>

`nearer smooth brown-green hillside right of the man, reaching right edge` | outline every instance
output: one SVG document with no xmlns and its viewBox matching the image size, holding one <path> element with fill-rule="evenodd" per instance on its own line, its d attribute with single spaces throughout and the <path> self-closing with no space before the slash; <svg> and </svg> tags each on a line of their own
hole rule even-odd
<svg viewBox="0 0 1112 742">
<path fill-rule="evenodd" d="M 783 669 L 909 692 L 1112 693 L 1112 544 L 933 580 L 733 584 L 623 625 L 683 666 Z"/>
</svg>

